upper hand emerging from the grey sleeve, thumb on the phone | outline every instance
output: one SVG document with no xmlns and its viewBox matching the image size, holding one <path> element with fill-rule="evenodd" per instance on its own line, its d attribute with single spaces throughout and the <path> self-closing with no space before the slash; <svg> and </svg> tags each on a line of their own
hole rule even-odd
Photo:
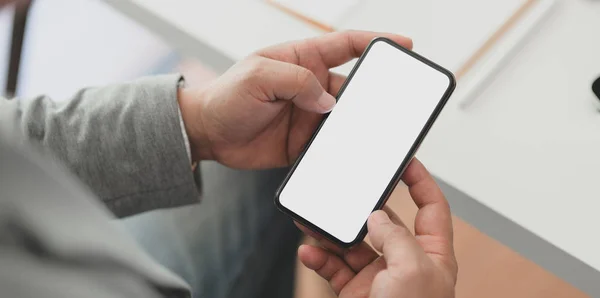
<svg viewBox="0 0 600 298">
<path fill-rule="evenodd" d="M 193 159 L 245 169 L 289 165 L 335 105 L 345 77 L 329 69 L 360 56 L 378 36 L 412 48 L 399 35 L 331 33 L 258 51 L 209 86 L 183 89 Z"/>
</svg>

